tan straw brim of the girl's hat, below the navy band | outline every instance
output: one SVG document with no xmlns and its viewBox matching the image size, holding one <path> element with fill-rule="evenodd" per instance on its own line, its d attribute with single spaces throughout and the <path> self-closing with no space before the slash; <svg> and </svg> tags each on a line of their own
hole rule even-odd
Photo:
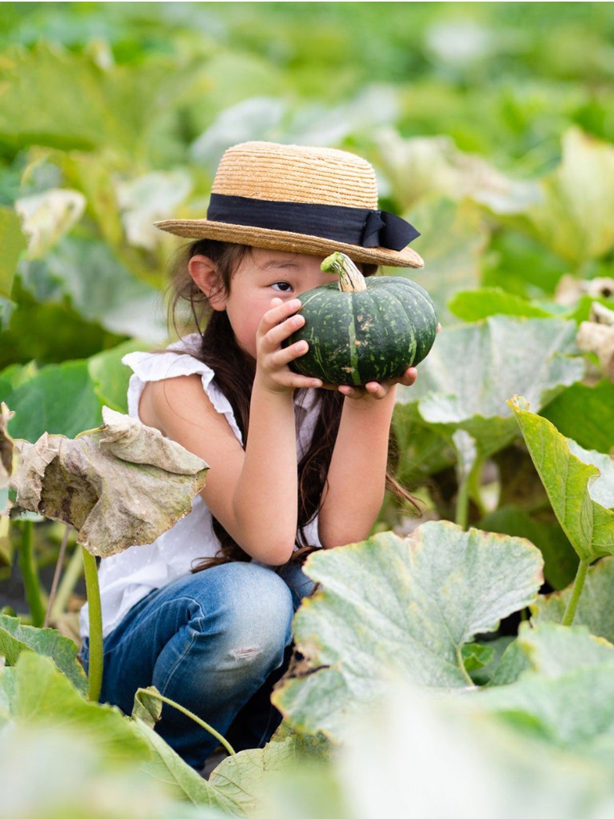
<svg viewBox="0 0 614 819">
<path fill-rule="evenodd" d="M 340 251 L 350 256 L 353 261 L 390 267 L 424 267 L 422 256 L 419 256 L 411 247 L 404 247 L 400 251 L 391 250 L 389 247 L 361 247 L 336 242 L 335 239 L 325 239 L 321 236 L 309 236 L 306 233 L 254 228 L 251 225 L 213 222 L 209 219 L 164 219 L 153 224 L 167 233 L 186 238 L 217 239 L 219 242 L 235 242 L 312 256 L 321 254 L 329 256 L 335 251 Z"/>
</svg>

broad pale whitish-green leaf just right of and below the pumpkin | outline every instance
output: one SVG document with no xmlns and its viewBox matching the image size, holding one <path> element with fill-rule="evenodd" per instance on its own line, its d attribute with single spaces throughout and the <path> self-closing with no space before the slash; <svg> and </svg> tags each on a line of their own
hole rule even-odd
<svg viewBox="0 0 614 819">
<path fill-rule="evenodd" d="M 561 319 L 504 315 L 444 328 L 412 387 L 398 388 L 400 404 L 418 402 L 422 419 L 452 440 L 458 428 L 477 442 L 482 457 L 517 435 L 506 401 L 530 397 L 537 409 L 582 378 L 584 360 L 571 358 L 576 324 Z"/>
</svg>

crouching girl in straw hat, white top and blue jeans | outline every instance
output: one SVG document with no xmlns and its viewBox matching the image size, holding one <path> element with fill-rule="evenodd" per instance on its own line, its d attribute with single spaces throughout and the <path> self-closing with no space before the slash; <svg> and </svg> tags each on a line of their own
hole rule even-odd
<svg viewBox="0 0 614 819">
<path fill-rule="evenodd" d="M 422 260 L 405 247 L 418 233 L 374 210 L 372 166 L 349 152 L 242 143 L 212 191 L 207 219 L 156 223 L 197 239 L 174 265 L 169 301 L 176 332 L 182 300 L 197 332 L 122 359 L 129 414 L 210 471 L 190 514 L 101 563 L 101 699 L 130 713 L 138 687 L 156 686 L 243 749 L 262 747 L 282 718 L 269 698 L 314 590 L 306 555 L 365 539 L 386 486 L 413 503 L 387 464 L 395 383 L 413 384 L 416 369 L 363 388 L 293 373 L 305 344 L 281 342 L 304 322 L 296 296 L 331 282 L 320 263 L 335 250 L 364 275 Z M 81 634 L 87 670 L 87 605 Z M 196 769 L 218 745 L 169 706 L 156 730 Z"/>
</svg>

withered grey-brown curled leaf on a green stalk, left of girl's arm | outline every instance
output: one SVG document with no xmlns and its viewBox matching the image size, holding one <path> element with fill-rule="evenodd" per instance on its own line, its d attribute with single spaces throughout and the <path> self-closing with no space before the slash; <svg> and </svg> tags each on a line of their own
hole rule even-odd
<svg viewBox="0 0 614 819">
<path fill-rule="evenodd" d="M 102 407 L 101 427 L 74 439 L 17 438 L 10 486 L 16 505 L 77 529 L 77 542 L 108 557 L 156 540 L 192 511 L 208 464 L 160 430 Z"/>
</svg>

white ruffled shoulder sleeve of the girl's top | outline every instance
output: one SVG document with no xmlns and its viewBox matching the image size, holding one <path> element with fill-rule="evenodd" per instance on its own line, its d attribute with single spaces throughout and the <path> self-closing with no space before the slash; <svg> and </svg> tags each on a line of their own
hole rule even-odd
<svg viewBox="0 0 614 819">
<path fill-rule="evenodd" d="M 199 373 L 202 387 L 214 408 L 225 416 L 239 443 L 243 443 L 241 430 L 237 426 L 230 401 L 214 382 L 214 371 L 186 351 L 183 341 L 174 342 L 163 353 L 135 351 L 124 355 L 122 364 L 133 370 L 128 385 L 128 414 L 138 419 L 138 402 L 145 384 L 148 381 L 161 381 L 163 378 L 176 378 L 179 375 Z M 141 419 L 139 419 L 141 420 Z"/>
</svg>

